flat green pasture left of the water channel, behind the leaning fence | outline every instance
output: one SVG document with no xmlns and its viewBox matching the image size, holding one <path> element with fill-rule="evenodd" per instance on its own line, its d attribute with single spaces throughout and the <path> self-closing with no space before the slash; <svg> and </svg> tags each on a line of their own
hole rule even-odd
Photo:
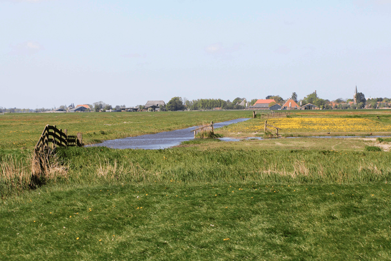
<svg viewBox="0 0 391 261">
<path fill-rule="evenodd" d="M 251 117 L 248 110 L 208 112 L 15 113 L 0 115 L 0 148 L 33 148 L 46 124 L 83 132 L 85 144 Z"/>
</svg>

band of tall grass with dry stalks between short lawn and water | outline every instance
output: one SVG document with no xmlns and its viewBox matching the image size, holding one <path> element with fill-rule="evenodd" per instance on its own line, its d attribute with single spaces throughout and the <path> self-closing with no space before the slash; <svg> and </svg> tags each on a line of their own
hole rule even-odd
<svg viewBox="0 0 391 261">
<path fill-rule="evenodd" d="M 387 152 L 259 151 L 174 148 L 154 151 L 106 147 L 59 150 L 69 180 L 78 183 L 262 182 L 352 184 L 391 178 Z"/>
</svg>

